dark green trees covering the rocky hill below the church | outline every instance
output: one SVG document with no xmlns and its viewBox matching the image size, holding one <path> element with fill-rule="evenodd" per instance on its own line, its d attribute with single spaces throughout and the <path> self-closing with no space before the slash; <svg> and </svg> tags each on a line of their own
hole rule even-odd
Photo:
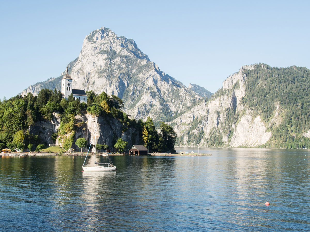
<svg viewBox="0 0 310 232">
<path fill-rule="evenodd" d="M 53 124 L 55 118 L 60 118 L 59 128 L 54 128 L 51 135 L 53 142 L 58 140 L 61 147 L 68 150 L 73 146 L 73 143 L 78 139 L 75 135 L 79 131 L 78 137 L 86 136 L 89 132 L 84 132 L 87 129 L 87 123 L 81 119 L 81 116 L 85 114 L 91 114 L 97 117 L 104 118 L 104 122 L 118 122 L 117 125 L 121 125 L 118 128 L 117 133 L 122 135 L 123 132 L 134 128 L 132 135 L 137 137 L 135 144 L 143 144 L 148 146 L 150 150 L 154 151 L 166 151 L 172 150 L 175 144 L 175 132 L 172 127 L 162 122 L 159 133 L 155 130 L 155 125 L 151 118 L 148 118 L 146 122 L 142 119 L 136 121 L 130 119 L 128 115 L 121 110 L 124 106 L 122 99 L 115 95 L 108 96 L 105 92 L 97 95 L 94 91 L 88 91 L 87 104 L 84 102 L 74 100 L 71 94 L 68 100 L 62 98 L 61 92 L 55 89 L 51 91 L 49 89 L 42 89 L 38 96 L 33 96 L 32 93 L 28 93 L 25 97 L 17 95 L 9 100 L 0 101 L 0 149 L 15 147 L 24 150 L 29 148 L 38 147 L 39 144 L 47 145 L 46 133 L 31 133 L 31 128 L 36 127 L 50 127 Z M 57 117 L 56 117 L 57 115 Z M 103 121 L 103 120 L 101 120 Z M 38 123 L 45 122 L 45 123 Z M 43 125 L 43 126 L 42 126 Z M 38 128 L 35 131 L 45 131 L 46 128 Z M 115 128 L 113 128 L 115 129 Z M 106 131 L 107 134 L 111 134 Z M 115 145 L 120 138 L 111 134 L 113 140 L 113 147 L 109 149 L 117 148 Z M 131 140 L 133 142 L 133 140 Z M 90 141 L 87 141 L 90 143 Z M 132 144 L 129 144 L 130 146 Z M 29 148 L 29 149 L 31 149 Z M 124 150 L 125 148 L 122 148 Z"/>
</svg>

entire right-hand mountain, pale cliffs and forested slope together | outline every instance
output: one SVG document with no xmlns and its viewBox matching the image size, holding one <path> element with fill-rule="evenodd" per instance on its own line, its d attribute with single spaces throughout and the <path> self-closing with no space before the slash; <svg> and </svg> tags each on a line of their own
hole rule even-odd
<svg viewBox="0 0 310 232">
<path fill-rule="evenodd" d="M 310 70 L 243 66 L 174 119 L 179 146 L 310 148 Z"/>
</svg>

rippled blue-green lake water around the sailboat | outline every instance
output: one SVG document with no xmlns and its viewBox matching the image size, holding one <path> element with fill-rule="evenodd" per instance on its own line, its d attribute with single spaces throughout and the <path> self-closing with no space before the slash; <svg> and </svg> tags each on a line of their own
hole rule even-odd
<svg viewBox="0 0 310 232">
<path fill-rule="evenodd" d="M 212 156 L 111 157 L 117 172 L 82 172 L 81 156 L 2 156 L 0 230 L 310 231 L 310 151 L 199 152 Z"/>
</svg>

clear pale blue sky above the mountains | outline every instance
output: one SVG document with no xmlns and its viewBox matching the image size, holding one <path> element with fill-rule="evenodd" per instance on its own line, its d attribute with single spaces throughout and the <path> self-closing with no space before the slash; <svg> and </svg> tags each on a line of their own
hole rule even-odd
<svg viewBox="0 0 310 232">
<path fill-rule="evenodd" d="M 57 77 L 107 27 L 210 92 L 242 65 L 310 67 L 310 1 L 3 1 L 0 99 Z"/>
</svg>

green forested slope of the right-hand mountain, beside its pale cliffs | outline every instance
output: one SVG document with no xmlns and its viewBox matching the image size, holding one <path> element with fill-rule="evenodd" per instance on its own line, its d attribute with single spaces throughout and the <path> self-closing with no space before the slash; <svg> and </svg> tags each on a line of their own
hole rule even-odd
<svg viewBox="0 0 310 232">
<path fill-rule="evenodd" d="M 243 103 L 262 116 L 272 137 L 267 147 L 310 148 L 303 134 L 310 129 L 310 70 L 305 67 L 277 68 L 257 64 L 246 70 Z M 277 108 L 281 122 L 271 122 Z"/>
</svg>

